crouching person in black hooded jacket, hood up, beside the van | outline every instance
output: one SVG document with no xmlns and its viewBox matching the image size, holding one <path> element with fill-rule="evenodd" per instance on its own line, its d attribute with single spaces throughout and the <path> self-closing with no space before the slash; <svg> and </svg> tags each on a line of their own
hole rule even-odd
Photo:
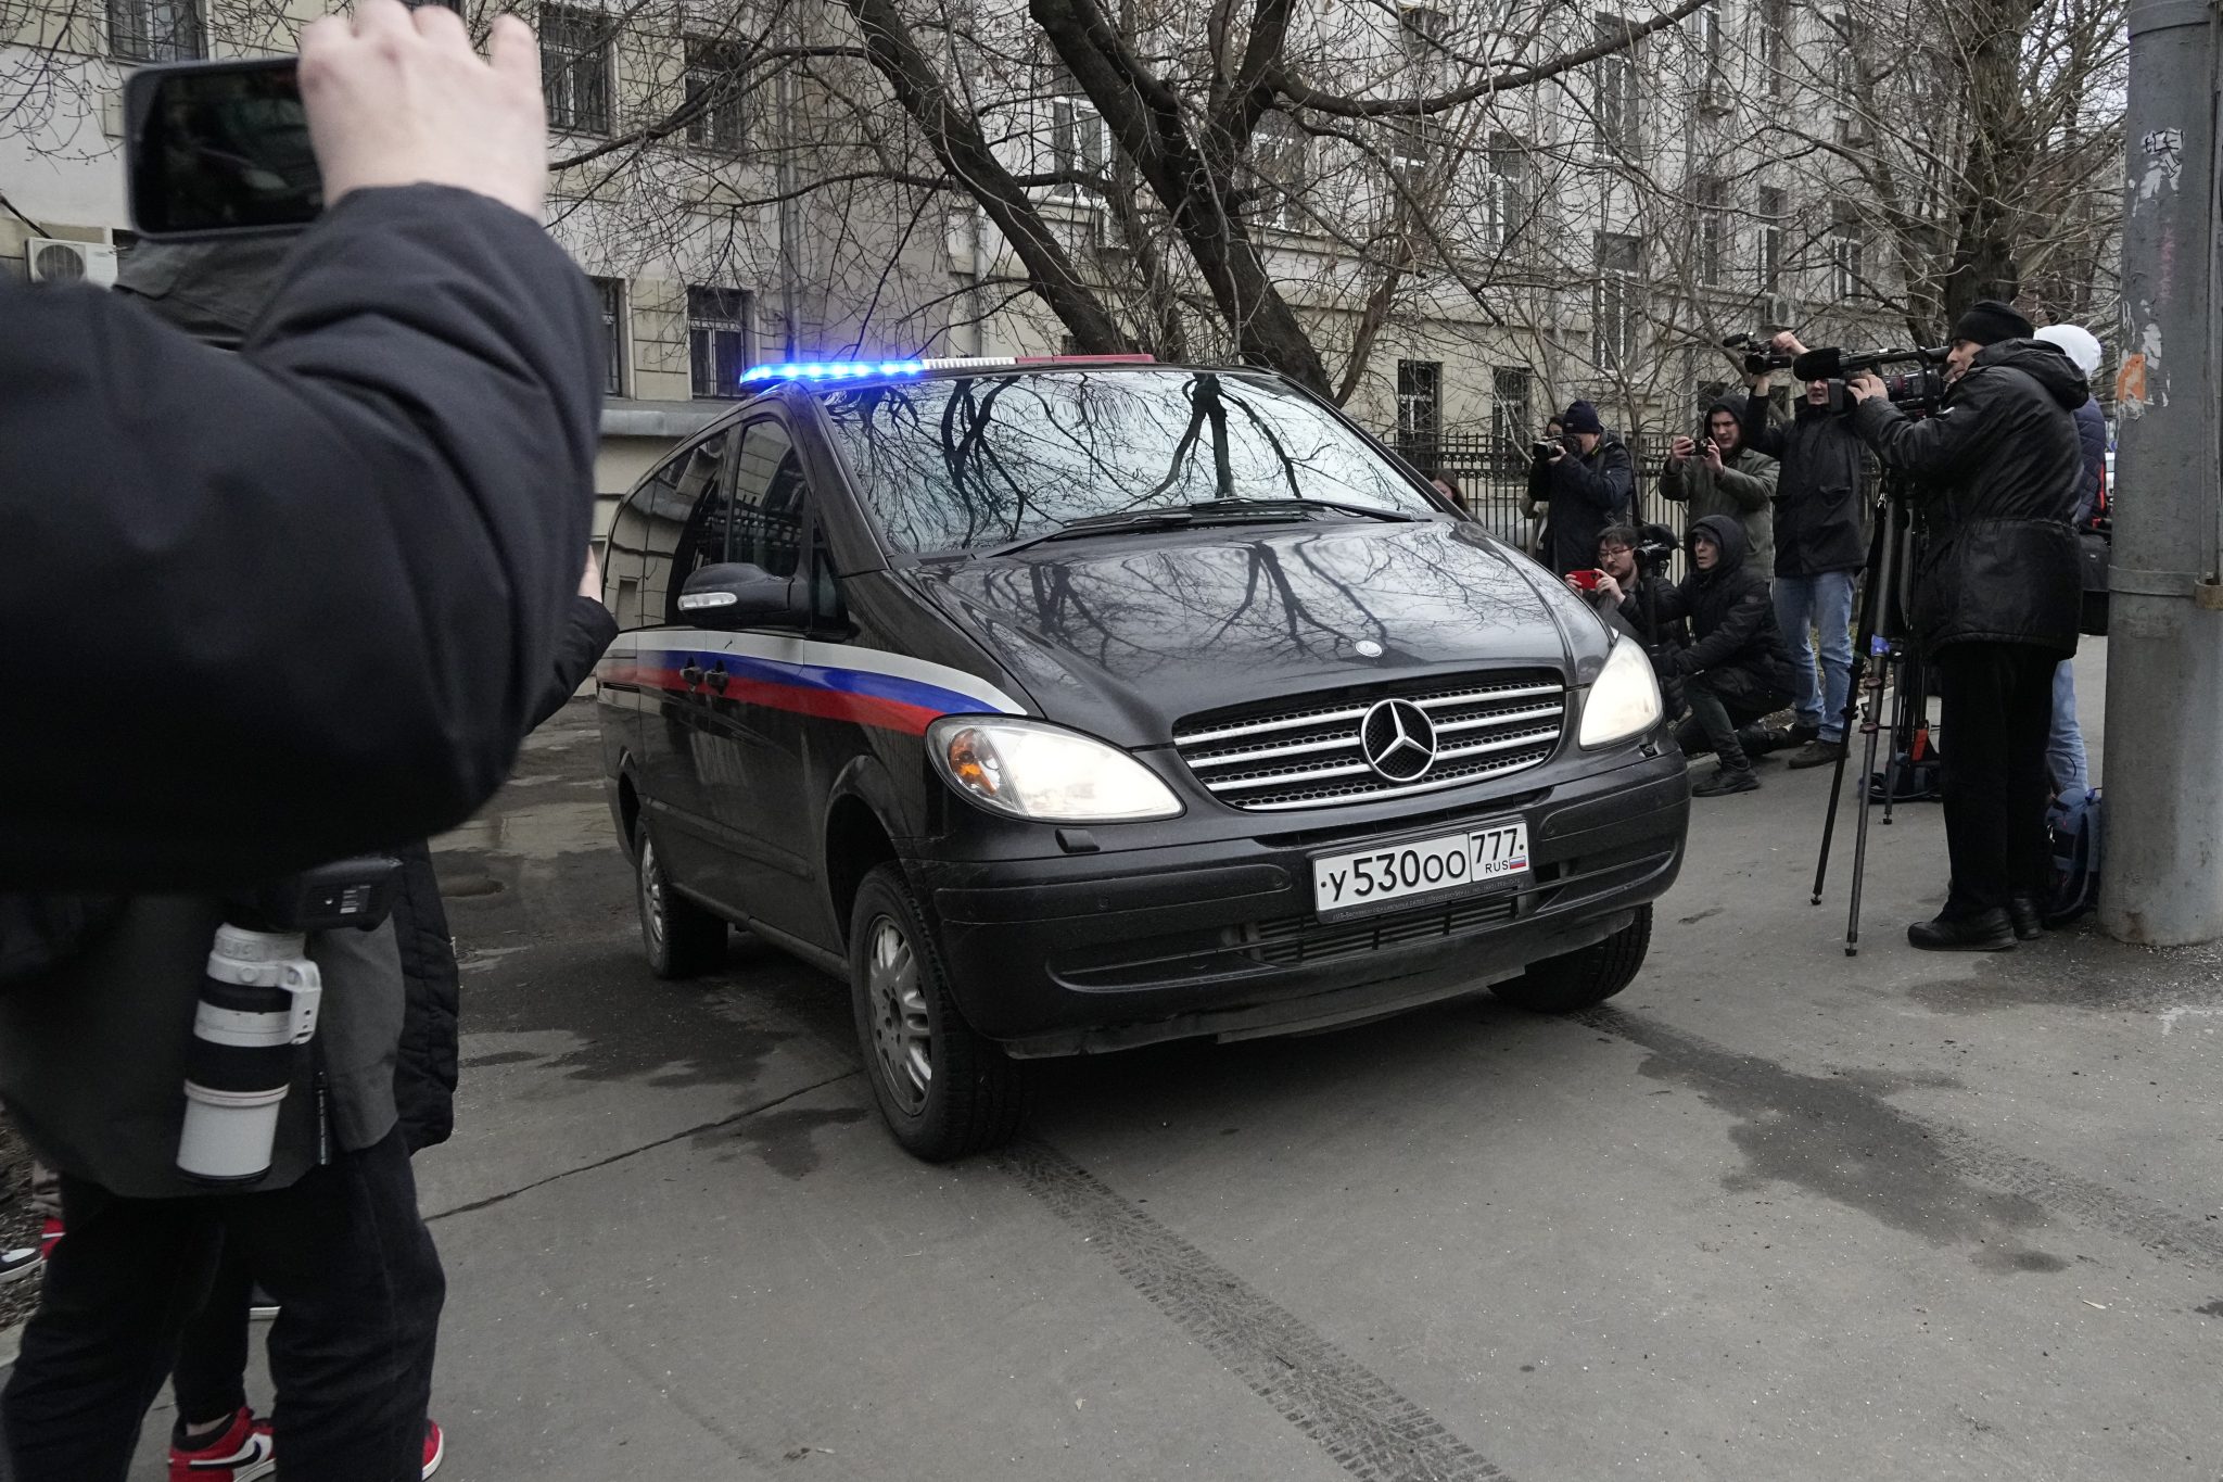
<svg viewBox="0 0 2223 1482">
<path fill-rule="evenodd" d="M 1698 751 L 1703 742 L 1718 758 L 1714 775 L 1692 787 L 1689 795 L 1750 793 L 1761 780 L 1736 729 L 1790 702 L 1792 660 L 1767 600 L 1767 578 L 1745 567 L 1745 527 L 1729 515 L 1707 515 L 1692 527 L 1685 544 L 1692 573 L 1678 587 L 1663 584 L 1656 607 L 1663 620 L 1689 618 L 1692 627 L 1692 644 L 1665 660 L 1689 702 L 1689 720 L 1676 729 L 1676 742 L 1685 751 Z M 1621 602 L 1625 620 L 1641 618 L 1621 582 L 1605 578 L 1598 589 Z"/>
</svg>

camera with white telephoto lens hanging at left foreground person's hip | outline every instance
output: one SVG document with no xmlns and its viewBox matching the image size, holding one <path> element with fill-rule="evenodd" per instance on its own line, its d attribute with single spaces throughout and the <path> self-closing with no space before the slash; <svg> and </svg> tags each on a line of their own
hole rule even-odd
<svg viewBox="0 0 2223 1482">
<path fill-rule="evenodd" d="M 251 1184 L 271 1171 L 278 1109 L 325 998 L 307 938 L 382 924 L 398 873 L 389 855 L 336 860 L 225 902 L 185 1055 L 182 1173 Z"/>
</svg>

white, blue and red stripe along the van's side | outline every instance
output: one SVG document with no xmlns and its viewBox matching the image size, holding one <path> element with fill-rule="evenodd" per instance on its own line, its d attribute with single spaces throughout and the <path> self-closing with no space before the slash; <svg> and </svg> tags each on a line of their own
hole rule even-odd
<svg viewBox="0 0 2223 1482">
<path fill-rule="evenodd" d="M 722 669 L 725 687 L 689 684 L 680 675 L 689 664 L 714 673 Z M 625 689 L 705 693 L 714 700 L 851 720 L 907 735 L 925 735 L 927 724 L 940 715 L 1027 713 L 1018 700 L 963 669 L 929 664 L 905 653 L 769 633 L 698 629 L 625 633 L 602 655 L 596 675 L 605 684 Z"/>
</svg>

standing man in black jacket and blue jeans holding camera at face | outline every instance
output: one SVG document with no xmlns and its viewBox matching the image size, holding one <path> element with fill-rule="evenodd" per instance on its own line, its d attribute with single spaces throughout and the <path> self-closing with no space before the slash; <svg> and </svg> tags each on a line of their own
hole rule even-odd
<svg viewBox="0 0 2223 1482">
<path fill-rule="evenodd" d="M 1776 353 L 1803 356 L 1805 344 L 1787 329 L 1770 340 Z M 1796 671 L 1796 715 L 1792 738 L 1803 742 L 1787 758 L 1792 767 L 1827 767 L 1845 749 L 1845 695 L 1852 689 L 1852 587 L 1867 564 L 1867 520 L 1863 487 L 1867 451 L 1845 418 L 1830 409 L 1830 382 L 1814 380 L 1792 407 L 1790 427 L 1767 424 L 1770 373 L 1752 380 L 1745 402 L 1745 447 L 1767 453 L 1781 469 L 1774 495 L 1776 538 L 1776 627 L 1783 631 Z M 1814 644 L 1821 633 L 1821 671 L 1814 680 Z"/>
</svg>

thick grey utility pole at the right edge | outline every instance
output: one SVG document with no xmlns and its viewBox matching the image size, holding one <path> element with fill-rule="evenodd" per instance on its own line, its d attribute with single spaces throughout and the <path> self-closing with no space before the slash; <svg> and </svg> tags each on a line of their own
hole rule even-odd
<svg viewBox="0 0 2223 1482">
<path fill-rule="evenodd" d="M 2223 204 L 2212 0 L 2132 0 L 2123 509 L 2107 633 L 2101 924 L 2223 938 Z"/>
</svg>

